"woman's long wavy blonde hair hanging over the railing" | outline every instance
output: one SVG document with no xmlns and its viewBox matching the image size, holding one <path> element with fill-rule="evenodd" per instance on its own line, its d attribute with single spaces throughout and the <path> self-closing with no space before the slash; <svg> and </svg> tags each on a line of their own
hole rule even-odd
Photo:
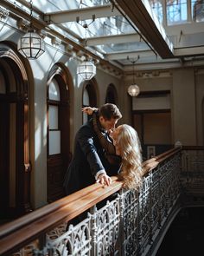
<svg viewBox="0 0 204 256">
<path fill-rule="evenodd" d="M 137 190 L 142 184 L 143 176 L 141 145 L 137 131 L 130 125 L 120 125 L 116 147 L 122 157 L 119 176 L 124 181 L 124 187 Z"/>
</svg>

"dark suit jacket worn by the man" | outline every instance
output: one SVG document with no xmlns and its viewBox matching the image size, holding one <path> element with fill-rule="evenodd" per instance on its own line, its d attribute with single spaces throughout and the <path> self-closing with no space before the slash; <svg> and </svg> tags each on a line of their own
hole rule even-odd
<svg viewBox="0 0 204 256">
<path fill-rule="evenodd" d="M 67 168 L 64 181 L 66 194 L 72 194 L 95 183 L 95 175 L 102 169 L 112 176 L 118 174 L 119 166 L 112 166 L 106 160 L 105 149 L 100 145 L 91 119 L 75 136 L 73 159 Z"/>
</svg>

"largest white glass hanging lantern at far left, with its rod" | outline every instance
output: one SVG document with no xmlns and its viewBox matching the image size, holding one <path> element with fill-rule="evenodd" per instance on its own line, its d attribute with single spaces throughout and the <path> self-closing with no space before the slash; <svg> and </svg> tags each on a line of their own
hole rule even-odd
<svg viewBox="0 0 204 256">
<path fill-rule="evenodd" d="M 28 59 L 37 59 L 45 52 L 45 43 L 41 36 L 39 36 L 32 28 L 32 18 L 33 1 L 30 0 L 29 30 L 19 39 L 17 49 L 22 56 Z"/>
</svg>

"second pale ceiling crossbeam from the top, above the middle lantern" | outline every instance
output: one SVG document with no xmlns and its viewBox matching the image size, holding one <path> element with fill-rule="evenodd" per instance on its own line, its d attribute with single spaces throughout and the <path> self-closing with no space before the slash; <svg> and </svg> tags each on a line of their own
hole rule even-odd
<svg viewBox="0 0 204 256">
<path fill-rule="evenodd" d="M 137 33 L 121 34 L 112 36 L 95 36 L 87 38 L 86 45 L 94 46 L 109 43 L 132 43 L 142 42 L 143 39 Z"/>
</svg>

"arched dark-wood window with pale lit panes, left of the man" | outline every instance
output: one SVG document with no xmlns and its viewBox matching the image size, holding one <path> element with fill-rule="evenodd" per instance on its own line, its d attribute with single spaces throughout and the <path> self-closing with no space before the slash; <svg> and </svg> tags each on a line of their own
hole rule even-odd
<svg viewBox="0 0 204 256">
<path fill-rule="evenodd" d="M 64 196 L 63 180 L 70 161 L 68 70 L 55 64 L 48 79 L 48 202 Z"/>
</svg>

